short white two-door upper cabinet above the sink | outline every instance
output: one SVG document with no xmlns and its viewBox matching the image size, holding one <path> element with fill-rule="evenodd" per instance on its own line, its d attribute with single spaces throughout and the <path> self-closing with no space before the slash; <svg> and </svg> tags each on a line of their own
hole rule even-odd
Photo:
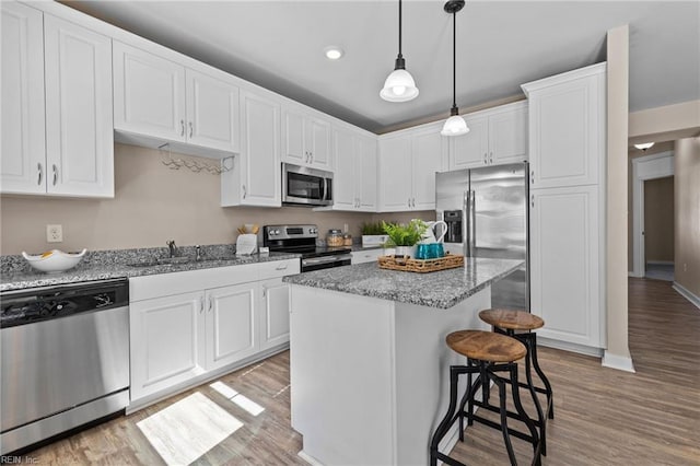
<svg viewBox="0 0 700 466">
<path fill-rule="evenodd" d="M 238 88 L 130 45 L 114 43 L 117 131 L 235 153 Z"/>
</svg>

